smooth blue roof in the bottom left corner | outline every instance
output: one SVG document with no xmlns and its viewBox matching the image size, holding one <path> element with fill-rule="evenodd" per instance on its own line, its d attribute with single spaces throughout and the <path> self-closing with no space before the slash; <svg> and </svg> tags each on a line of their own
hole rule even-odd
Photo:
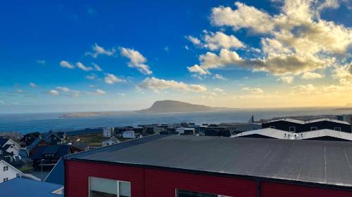
<svg viewBox="0 0 352 197">
<path fill-rule="evenodd" d="M 0 184 L 0 197 L 60 197 L 61 195 L 51 192 L 61 187 L 63 185 L 15 178 Z"/>
</svg>

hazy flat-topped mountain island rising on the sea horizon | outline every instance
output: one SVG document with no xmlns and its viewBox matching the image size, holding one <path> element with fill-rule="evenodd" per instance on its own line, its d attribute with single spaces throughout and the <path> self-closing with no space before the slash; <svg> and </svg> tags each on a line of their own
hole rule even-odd
<svg viewBox="0 0 352 197">
<path fill-rule="evenodd" d="M 143 113 L 169 113 L 169 112 L 201 112 L 201 111 L 226 111 L 232 108 L 209 107 L 203 104 L 190 104 L 177 100 L 159 100 L 154 102 L 148 109 L 137 112 Z"/>
</svg>

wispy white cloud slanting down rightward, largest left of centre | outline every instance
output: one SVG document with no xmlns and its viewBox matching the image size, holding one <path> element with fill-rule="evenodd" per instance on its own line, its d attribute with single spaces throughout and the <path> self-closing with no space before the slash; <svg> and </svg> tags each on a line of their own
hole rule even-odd
<svg viewBox="0 0 352 197">
<path fill-rule="evenodd" d="M 120 48 L 121 55 L 130 59 L 130 62 L 127 64 L 128 67 L 137 68 L 142 74 L 152 74 L 149 66 L 145 64 L 146 57 L 144 57 L 137 50 L 131 48 Z"/>
</svg>

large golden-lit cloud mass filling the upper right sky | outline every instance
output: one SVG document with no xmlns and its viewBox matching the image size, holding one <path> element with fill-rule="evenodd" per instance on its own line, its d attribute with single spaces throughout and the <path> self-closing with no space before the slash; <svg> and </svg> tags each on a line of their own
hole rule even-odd
<svg viewBox="0 0 352 197">
<path fill-rule="evenodd" d="M 246 29 L 249 36 L 260 35 L 262 53 L 254 58 L 241 57 L 232 48 L 246 46 L 246 43 L 239 43 L 238 39 L 234 39 L 236 37 L 222 32 L 208 33 L 208 43 L 199 40 L 196 44 L 220 52 L 199 55 L 199 64 L 187 67 L 189 72 L 205 75 L 210 74 L 210 69 L 240 67 L 255 72 L 268 72 L 291 83 L 292 77 L 299 75 L 302 79 L 320 79 L 324 75 L 316 71 L 336 67 L 335 78 L 346 84 L 346 68 L 341 67 L 344 61 L 351 61 L 351 58 L 345 57 L 351 53 L 352 29 L 323 20 L 319 14 L 326 8 L 337 8 L 337 1 L 286 0 L 277 15 L 270 15 L 239 1 L 235 6 L 236 8 L 213 8 L 211 23 L 216 27 L 232 27 L 234 32 Z M 232 41 L 229 41 L 230 38 Z M 227 41 L 222 42 L 224 40 Z M 237 43 L 237 47 L 234 43 Z"/>
</svg>

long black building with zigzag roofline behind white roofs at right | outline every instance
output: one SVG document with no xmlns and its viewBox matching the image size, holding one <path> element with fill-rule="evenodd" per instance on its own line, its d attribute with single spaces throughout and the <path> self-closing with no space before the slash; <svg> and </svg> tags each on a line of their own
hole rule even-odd
<svg viewBox="0 0 352 197">
<path fill-rule="evenodd" d="M 322 118 L 311 121 L 300 121 L 291 118 L 282 118 L 263 123 L 262 128 L 275 128 L 277 130 L 286 130 L 293 133 L 302 133 L 322 129 L 338 130 L 341 132 L 351 133 L 350 123 L 329 118 Z"/>
</svg>

